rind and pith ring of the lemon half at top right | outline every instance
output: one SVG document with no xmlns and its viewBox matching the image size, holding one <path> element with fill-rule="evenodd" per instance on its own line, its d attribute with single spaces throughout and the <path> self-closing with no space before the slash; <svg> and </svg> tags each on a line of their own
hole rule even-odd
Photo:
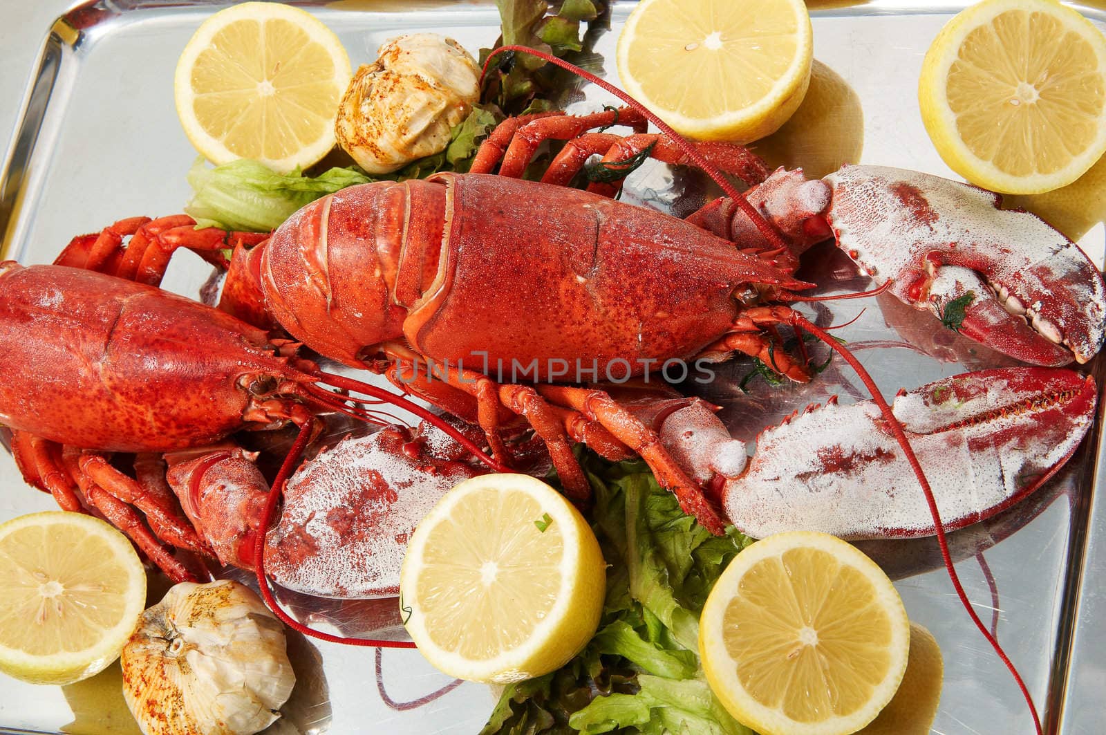
<svg viewBox="0 0 1106 735">
<path fill-rule="evenodd" d="M 1066 30 L 1078 32 L 1095 50 L 1098 68 L 1106 76 L 1106 40 L 1078 11 L 1053 0 L 984 0 L 957 14 L 933 39 L 918 80 L 919 105 L 926 131 L 949 168 L 972 184 L 1001 194 L 1043 194 L 1071 184 L 1106 153 L 1106 110 L 1098 118 L 1097 136 L 1068 166 L 1053 174 L 1015 176 L 980 158 L 964 144 L 945 93 L 945 81 L 968 34 L 1011 10 L 1042 11 L 1061 18 Z"/>
</svg>

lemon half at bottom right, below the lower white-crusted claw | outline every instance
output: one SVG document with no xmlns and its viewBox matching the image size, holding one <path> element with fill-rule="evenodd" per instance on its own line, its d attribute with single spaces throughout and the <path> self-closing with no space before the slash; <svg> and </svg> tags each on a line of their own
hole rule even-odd
<svg viewBox="0 0 1106 735">
<path fill-rule="evenodd" d="M 895 587 L 826 534 L 778 534 L 739 553 L 699 622 L 707 681 L 762 735 L 845 735 L 879 714 L 906 670 Z"/>
</svg>

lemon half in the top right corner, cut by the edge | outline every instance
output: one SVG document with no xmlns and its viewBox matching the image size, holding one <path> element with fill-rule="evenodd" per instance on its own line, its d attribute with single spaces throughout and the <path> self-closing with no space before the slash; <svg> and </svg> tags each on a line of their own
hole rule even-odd
<svg viewBox="0 0 1106 735">
<path fill-rule="evenodd" d="M 1106 39 L 1053 0 L 984 0 L 929 46 L 918 102 L 938 153 L 969 182 L 1050 191 L 1106 152 Z"/>
</svg>

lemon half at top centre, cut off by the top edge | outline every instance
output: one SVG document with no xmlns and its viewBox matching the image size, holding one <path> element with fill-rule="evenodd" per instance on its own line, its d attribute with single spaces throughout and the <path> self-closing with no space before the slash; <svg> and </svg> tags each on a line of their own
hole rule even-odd
<svg viewBox="0 0 1106 735">
<path fill-rule="evenodd" d="M 812 48 L 803 0 L 643 0 L 616 59 L 626 92 L 678 133 L 749 143 L 803 101 Z"/>
</svg>

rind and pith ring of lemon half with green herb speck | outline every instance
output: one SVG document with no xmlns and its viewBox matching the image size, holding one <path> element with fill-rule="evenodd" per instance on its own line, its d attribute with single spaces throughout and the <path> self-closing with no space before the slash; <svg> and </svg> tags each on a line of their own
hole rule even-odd
<svg viewBox="0 0 1106 735">
<path fill-rule="evenodd" d="M 605 563 L 587 521 L 564 496 L 529 475 L 481 475 L 459 483 L 419 522 L 411 535 L 400 570 L 401 594 L 404 590 L 413 588 L 417 573 L 424 566 L 422 548 L 426 537 L 450 517 L 452 509 L 467 493 L 486 489 L 489 486 L 514 491 L 520 491 L 520 486 L 524 486 L 525 489 L 522 491 L 539 500 L 542 510 L 549 513 L 552 522 L 560 527 L 564 540 L 564 556 L 559 566 L 561 586 L 557 589 L 556 601 L 545 618 L 530 632 L 526 642 L 508 649 L 493 659 L 474 661 L 465 658 L 434 642 L 426 629 L 425 615 L 421 614 L 416 596 L 406 594 L 401 599 L 407 610 L 404 613 L 407 618 L 405 622 L 407 632 L 431 664 L 458 679 L 509 684 L 559 669 L 576 654 L 578 648 L 591 640 L 602 612 Z M 598 570 L 597 578 L 596 569 L 588 569 L 591 565 L 595 565 Z M 596 604 L 582 610 L 580 605 L 582 600 L 595 601 Z M 571 652 L 568 649 L 572 649 Z M 554 652 L 557 650 L 563 650 L 563 653 L 556 655 Z"/>
</svg>

